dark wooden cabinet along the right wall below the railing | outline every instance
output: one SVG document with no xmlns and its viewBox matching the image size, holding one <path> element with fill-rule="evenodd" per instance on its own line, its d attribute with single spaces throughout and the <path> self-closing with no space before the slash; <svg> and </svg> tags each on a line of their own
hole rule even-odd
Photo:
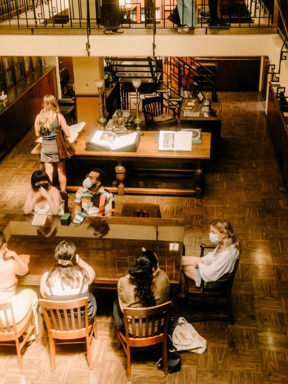
<svg viewBox="0 0 288 384">
<path fill-rule="evenodd" d="M 285 118 L 280 110 L 279 99 L 276 98 L 271 83 L 269 83 L 267 120 L 279 166 L 288 188 L 288 118 Z"/>
</svg>

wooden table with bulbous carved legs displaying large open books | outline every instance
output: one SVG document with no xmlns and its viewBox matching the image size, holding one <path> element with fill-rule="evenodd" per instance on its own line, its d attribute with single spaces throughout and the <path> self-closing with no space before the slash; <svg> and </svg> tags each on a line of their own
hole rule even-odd
<svg viewBox="0 0 288 384">
<path fill-rule="evenodd" d="M 118 187 L 106 186 L 112 193 L 118 193 L 118 195 L 124 195 L 125 193 L 137 193 L 137 194 L 178 194 L 178 195 L 195 195 L 200 198 L 202 196 L 202 184 L 204 182 L 204 168 L 203 161 L 210 158 L 210 133 L 202 134 L 201 144 L 192 144 L 191 152 L 165 152 L 158 151 L 158 143 L 154 142 L 156 132 L 147 131 L 141 136 L 140 144 L 137 152 L 93 152 L 85 150 L 85 141 L 91 131 L 81 131 L 78 139 L 76 140 L 75 155 L 78 159 L 87 160 L 115 160 L 118 165 L 115 167 L 116 179 L 119 181 Z M 32 154 L 40 154 L 41 144 L 31 151 Z M 163 161 L 175 161 L 175 168 L 179 161 L 185 163 L 196 163 L 195 169 L 192 170 L 192 176 L 196 182 L 195 189 L 160 189 L 160 188 L 126 188 L 124 187 L 124 179 L 126 175 L 126 169 L 122 164 L 124 161 L 149 161 L 156 164 L 159 169 L 159 163 Z M 78 187 L 74 187 L 76 190 Z M 73 187 L 67 188 L 73 190 Z"/>
</svg>

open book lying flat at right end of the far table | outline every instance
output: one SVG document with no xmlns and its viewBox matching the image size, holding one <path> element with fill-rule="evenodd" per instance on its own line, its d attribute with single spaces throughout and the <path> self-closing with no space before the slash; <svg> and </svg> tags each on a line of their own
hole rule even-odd
<svg viewBox="0 0 288 384">
<path fill-rule="evenodd" d="M 191 152 L 192 132 L 179 131 L 160 131 L 159 151 L 185 151 Z"/>
</svg>

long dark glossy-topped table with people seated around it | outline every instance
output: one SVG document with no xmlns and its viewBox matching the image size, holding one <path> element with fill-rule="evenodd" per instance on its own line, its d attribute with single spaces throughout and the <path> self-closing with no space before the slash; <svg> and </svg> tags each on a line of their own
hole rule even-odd
<svg viewBox="0 0 288 384">
<path fill-rule="evenodd" d="M 94 287 L 116 289 L 119 278 L 128 273 L 144 247 L 157 254 L 160 268 L 169 277 L 172 320 L 177 319 L 184 220 L 87 217 L 81 225 L 65 226 L 61 225 L 60 216 L 48 216 L 44 226 L 35 226 L 30 219 L 31 215 L 6 214 L 0 223 L 9 249 L 19 255 L 30 255 L 30 271 L 26 276 L 18 276 L 19 284 L 40 285 L 43 273 L 53 269 L 56 245 L 71 240 L 79 256 L 95 270 Z M 169 250 L 170 244 L 174 250 Z"/>
</svg>

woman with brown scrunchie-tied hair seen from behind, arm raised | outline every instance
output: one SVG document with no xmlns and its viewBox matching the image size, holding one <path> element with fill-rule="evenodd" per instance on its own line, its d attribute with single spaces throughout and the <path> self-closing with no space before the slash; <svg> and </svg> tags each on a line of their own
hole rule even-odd
<svg viewBox="0 0 288 384">
<path fill-rule="evenodd" d="M 71 241 L 63 240 L 55 248 L 55 265 L 45 272 L 40 281 L 40 292 L 47 300 L 65 301 L 88 297 L 88 322 L 93 323 L 97 306 L 88 287 L 93 283 L 95 271 L 77 254 Z M 81 311 L 84 320 L 84 311 Z"/>
</svg>

